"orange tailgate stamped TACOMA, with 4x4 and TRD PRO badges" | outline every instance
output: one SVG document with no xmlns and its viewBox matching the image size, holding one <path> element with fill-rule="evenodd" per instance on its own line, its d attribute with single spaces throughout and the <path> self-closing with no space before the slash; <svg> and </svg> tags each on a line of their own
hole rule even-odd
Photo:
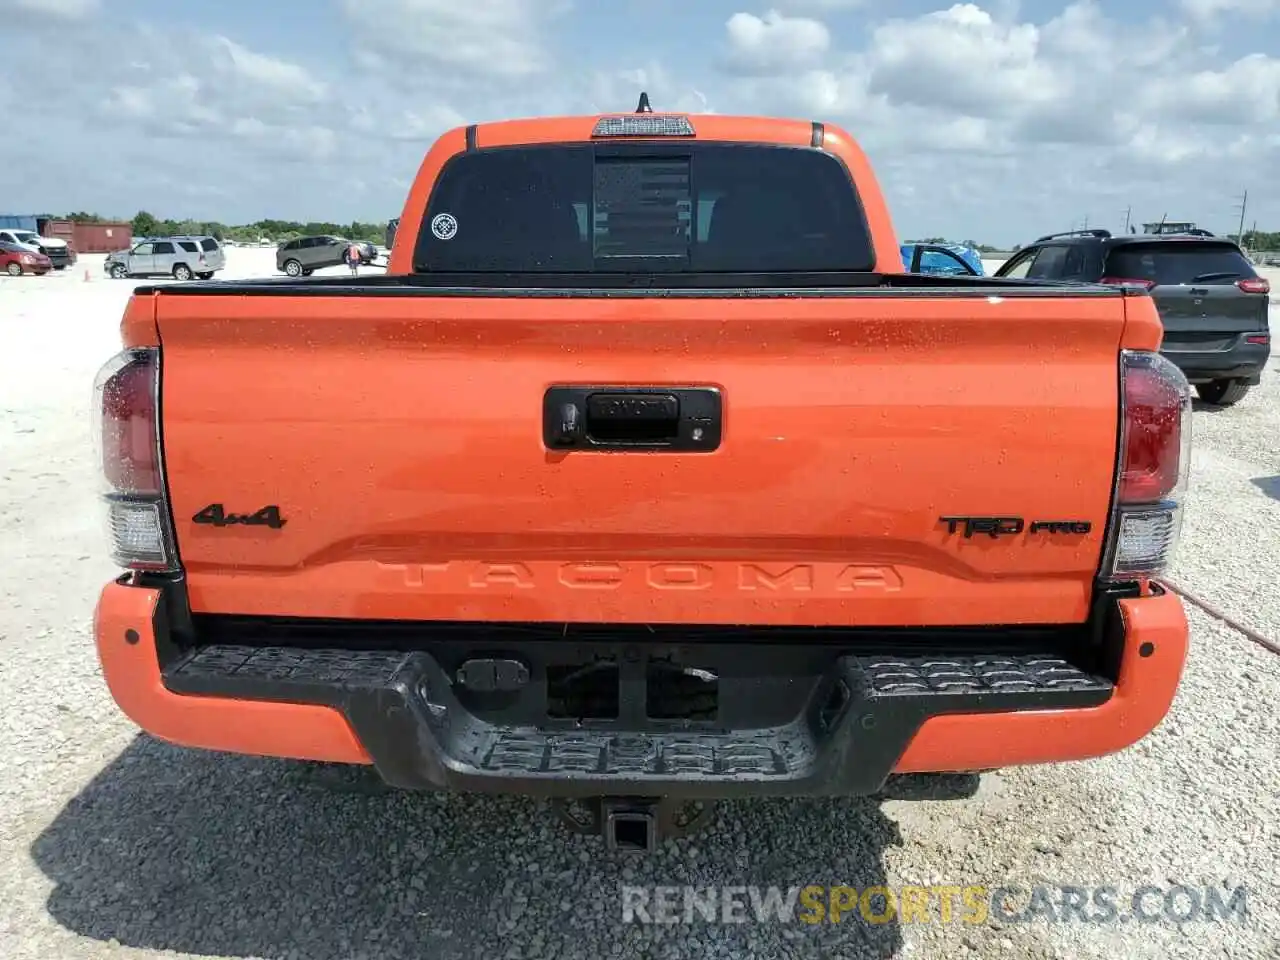
<svg viewBox="0 0 1280 960">
<path fill-rule="evenodd" d="M 1112 492 L 1124 300 L 888 294 L 155 293 L 192 609 L 1083 621 Z M 549 451 L 554 384 L 717 387 L 722 443 Z M 285 522 L 193 521 L 215 503 L 278 506 Z M 966 538 L 945 516 L 1028 530 Z"/>
</svg>

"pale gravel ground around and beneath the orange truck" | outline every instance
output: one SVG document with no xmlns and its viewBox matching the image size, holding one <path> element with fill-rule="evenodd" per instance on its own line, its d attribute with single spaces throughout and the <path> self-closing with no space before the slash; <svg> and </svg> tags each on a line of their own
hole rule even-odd
<svg viewBox="0 0 1280 960">
<path fill-rule="evenodd" d="M 270 251 L 230 256 L 228 275 L 270 269 Z M 1280 659 L 1194 609 L 1174 710 L 1132 750 L 987 774 L 977 792 L 955 778 L 954 799 L 726 805 L 709 832 L 639 861 L 561 832 L 531 801 L 393 794 L 360 773 L 140 736 L 90 636 L 113 568 L 91 502 L 88 385 L 129 284 L 84 260 L 0 278 L 6 960 L 1280 956 Z M 1176 580 L 1280 635 L 1280 371 L 1236 408 L 1197 411 L 1194 429 Z M 1244 884 L 1249 916 L 645 925 L 622 923 L 620 890 L 1037 882 L 1108 884 L 1121 908 L 1142 884 Z"/>
</svg>

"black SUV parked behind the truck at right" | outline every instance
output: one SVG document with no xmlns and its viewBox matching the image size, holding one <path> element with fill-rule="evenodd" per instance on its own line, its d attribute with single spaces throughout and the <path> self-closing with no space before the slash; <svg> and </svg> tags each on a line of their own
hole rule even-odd
<svg viewBox="0 0 1280 960">
<path fill-rule="evenodd" d="M 1239 246 L 1207 230 L 1051 233 L 1014 253 L 996 276 L 1144 287 L 1165 325 L 1161 353 L 1208 403 L 1238 403 L 1271 355 L 1271 284 Z"/>
</svg>

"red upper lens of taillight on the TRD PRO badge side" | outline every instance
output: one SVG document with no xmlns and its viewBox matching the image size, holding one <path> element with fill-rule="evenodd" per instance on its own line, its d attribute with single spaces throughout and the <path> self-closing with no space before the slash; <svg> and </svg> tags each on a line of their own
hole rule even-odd
<svg viewBox="0 0 1280 960">
<path fill-rule="evenodd" d="M 1124 449 L 1120 503 L 1156 503 L 1178 489 L 1183 407 L 1190 401 L 1181 372 L 1158 353 L 1132 355 L 1124 369 Z M 1151 362 L 1147 362 L 1147 361 Z M 1170 375 L 1170 369 L 1176 376 Z"/>
</svg>

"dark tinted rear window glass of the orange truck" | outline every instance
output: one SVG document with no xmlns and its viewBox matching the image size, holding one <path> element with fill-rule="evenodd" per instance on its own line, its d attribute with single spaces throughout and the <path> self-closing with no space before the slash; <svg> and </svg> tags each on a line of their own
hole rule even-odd
<svg viewBox="0 0 1280 960">
<path fill-rule="evenodd" d="M 422 219 L 417 271 L 870 270 L 844 165 L 756 145 L 511 147 L 463 154 Z"/>
</svg>

